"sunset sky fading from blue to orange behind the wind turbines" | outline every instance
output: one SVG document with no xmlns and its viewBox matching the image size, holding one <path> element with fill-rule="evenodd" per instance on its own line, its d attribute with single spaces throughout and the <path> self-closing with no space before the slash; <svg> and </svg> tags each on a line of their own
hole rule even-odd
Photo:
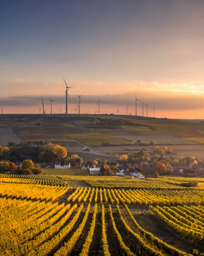
<svg viewBox="0 0 204 256">
<path fill-rule="evenodd" d="M 204 118 L 201 0 L 8 0 L 0 4 L 3 113 Z M 128 109 L 127 109 L 128 107 Z M 42 111 L 42 110 L 41 110 Z"/>
</svg>

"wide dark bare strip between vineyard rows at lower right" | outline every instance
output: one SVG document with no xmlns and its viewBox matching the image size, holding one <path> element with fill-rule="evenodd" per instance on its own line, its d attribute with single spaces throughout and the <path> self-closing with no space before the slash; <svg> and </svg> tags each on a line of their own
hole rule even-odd
<svg viewBox="0 0 204 256">
<path fill-rule="evenodd" d="M 155 237 L 161 239 L 163 242 L 187 253 L 192 253 L 193 249 L 197 249 L 200 253 L 204 252 L 203 246 L 192 244 L 188 240 L 175 234 L 170 229 L 167 229 L 167 227 L 164 226 L 164 224 L 160 222 L 149 209 L 131 209 L 131 212 L 135 220 L 143 229 L 154 234 Z"/>
</svg>

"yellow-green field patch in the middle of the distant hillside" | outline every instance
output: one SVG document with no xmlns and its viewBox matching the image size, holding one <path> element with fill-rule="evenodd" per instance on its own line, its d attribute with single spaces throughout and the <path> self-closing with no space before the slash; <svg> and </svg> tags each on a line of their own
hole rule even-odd
<svg viewBox="0 0 204 256">
<path fill-rule="evenodd" d="M 85 145 L 90 145 L 90 146 L 98 146 L 98 145 L 101 145 L 102 142 L 110 143 L 110 144 L 120 144 L 120 143 L 129 143 L 130 142 L 130 140 L 125 139 L 125 138 L 112 136 L 112 135 L 108 135 L 108 134 L 98 134 L 98 133 L 67 134 L 65 136 L 75 139 L 77 141 L 80 141 L 81 143 L 83 143 Z"/>
</svg>

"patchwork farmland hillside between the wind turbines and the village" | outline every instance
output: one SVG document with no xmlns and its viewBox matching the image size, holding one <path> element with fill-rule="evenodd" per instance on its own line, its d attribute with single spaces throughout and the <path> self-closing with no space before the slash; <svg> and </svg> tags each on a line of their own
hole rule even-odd
<svg viewBox="0 0 204 256">
<path fill-rule="evenodd" d="M 101 146 L 102 143 L 133 144 L 137 140 L 149 143 L 195 144 L 203 143 L 204 125 L 173 119 L 154 119 L 123 116 L 100 115 L 100 124 L 95 125 L 95 115 L 3 115 L 0 119 L 2 129 L 13 129 L 14 133 L 4 137 L 0 133 L 0 142 L 19 143 L 21 140 L 49 140 L 53 143 L 73 143 L 80 141 L 84 145 Z M 110 120 L 112 124 L 106 124 Z M 127 122 L 127 124 L 121 125 Z M 8 128 L 6 128 L 8 127 Z M 11 127 L 11 128 L 10 128 Z M 15 137 L 15 138 L 14 138 Z M 16 140 L 19 138 L 20 141 Z"/>
</svg>

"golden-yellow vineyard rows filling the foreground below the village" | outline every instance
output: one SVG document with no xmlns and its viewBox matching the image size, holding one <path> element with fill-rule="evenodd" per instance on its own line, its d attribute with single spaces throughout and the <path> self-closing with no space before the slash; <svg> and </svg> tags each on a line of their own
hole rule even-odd
<svg viewBox="0 0 204 256">
<path fill-rule="evenodd" d="M 180 182 L 0 175 L 0 254 L 202 255 L 204 189 Z"/>
</svg>

